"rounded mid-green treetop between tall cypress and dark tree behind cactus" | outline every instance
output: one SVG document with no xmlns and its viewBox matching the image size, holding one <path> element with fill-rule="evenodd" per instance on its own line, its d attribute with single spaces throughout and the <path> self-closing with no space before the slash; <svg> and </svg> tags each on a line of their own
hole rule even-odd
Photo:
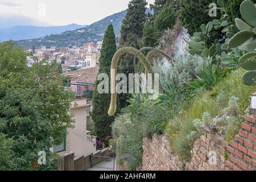
<svg viewBox="0 0 256 182">
<path fill-rule="evenodd" d="M 167 28 L 171 28 L 176 23 L 177 19 L 177 1 L 168 1 L 163 9 L 159 11 L 155 18 L 154 27 L 156 32 L 162 32 Z"/>
</svg>

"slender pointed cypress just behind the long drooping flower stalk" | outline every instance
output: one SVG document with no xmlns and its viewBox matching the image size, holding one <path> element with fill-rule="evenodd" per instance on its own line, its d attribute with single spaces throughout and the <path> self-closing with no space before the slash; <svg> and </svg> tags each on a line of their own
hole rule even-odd
<svg viewBox="0 0 256 182">
<path fill-rule="evenodd" d="M 106 73 L 110 79 L 110 67 L 114 53 L 117 51 L 117 45 L 115 43 L 115 34 L 113 25 L 110 24 L 105 32 L 101 56 L 100 56 L 100 73 Z M 108 115 L 108 109 L 110 105 L 110 93 L 98 93 L 97 86 L 101 81 L 96 81 L 96 89 L 93 92 L 93 110 L 91 117 L 95 123 L 95 131 L 97 137 L 100 140 L 104 140 L 112 133 L 111 124 L 114 121 L 114 117 Z M 110 88 L 110 84 L 109 84 Z"/>
</svg>

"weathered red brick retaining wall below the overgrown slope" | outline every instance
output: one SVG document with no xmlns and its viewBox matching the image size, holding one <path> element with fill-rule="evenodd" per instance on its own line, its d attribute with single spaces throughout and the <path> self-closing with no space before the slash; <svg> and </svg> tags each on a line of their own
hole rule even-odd
<svg viewBox="0 0 256 182">
<path fill-rule="evenodd" d="M 215 158 L 216 156 L 216 158 Z M 185 170 L 190 171 L 256 171 L 256 118 L 247 116 L 241 124 L 236 138 L 230 143 L 209 130 L 197 139 L 193 146 L 190 162 L 180 162 L 171 150 L 166 135 L 153 135 L 143 140 L 142 166 L 139 170 Z M 118 166 L 125 170 L 126 167 Z"/>
</svg>

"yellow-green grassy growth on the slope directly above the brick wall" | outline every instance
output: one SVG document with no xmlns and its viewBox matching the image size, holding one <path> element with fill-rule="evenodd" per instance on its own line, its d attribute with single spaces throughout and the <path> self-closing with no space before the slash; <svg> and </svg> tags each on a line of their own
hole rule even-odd
<svg viewBox="0 0 256 182">
<path fill-rule="evenodd" d="M 166 132 L 174 151 L 181 159 L 189 160 L 191 158 L 193 142 L 200 136 L 198 135 L 200 134 L 199 128 L 196 127 L 198 125 L 194 125 L 195 119 L 201 121 L 205 113 L 208 113 L 209 118 L 221 118 L 218 119 L 219 122 L 216 126 L 219 128 L 225 127 L 224 130 L 219 130 L 219 132 L 226 140 L 229 141 L 237 134 L 240 122 L 246 115 L 245 111 L 249 106 L 250 94 L 255 91 L 254 86 L 243 85 L 242 73 L 241 69 L 230 73 L 228 77 L 214 86 L 212 91 L 198 90 L 197 95 L 191 100 L 191 104 L 181 110 L 177 118 L 170 120 Z M 223 93 L 224 89 L 225 93 Z M 237 105 L 238 107 L 234 108 Z M 232 111 L 235 111 L 236 114 Z M 237 115 L 240 115 L 239 119 Z M 235 120 L 233 122 L 224 120 L 230 117 Z"/>
</svg>

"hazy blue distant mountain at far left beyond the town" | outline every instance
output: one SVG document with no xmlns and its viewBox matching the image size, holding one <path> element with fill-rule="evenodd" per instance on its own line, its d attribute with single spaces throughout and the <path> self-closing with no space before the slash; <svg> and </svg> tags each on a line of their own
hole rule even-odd
<svg viewBox="0 0 256 182">
<path fill-rule="evenodd" d="M 24 40 L 37 39 L 51 34 L 60 34 L 69 30 L 82 28 L 78 24 L 69 24 L 67 26 L 51 26 L 51 27 L 36 27 L 36 26 L 15 26 L 11 28 L 0 29 L 0 42 L 7 40 Z"/>
</svg>

